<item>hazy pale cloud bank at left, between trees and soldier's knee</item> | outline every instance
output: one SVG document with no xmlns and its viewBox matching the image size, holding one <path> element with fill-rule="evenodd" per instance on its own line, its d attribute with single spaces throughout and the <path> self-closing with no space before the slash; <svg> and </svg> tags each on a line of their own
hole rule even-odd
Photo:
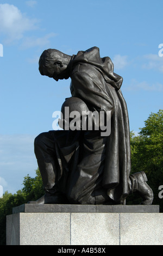
<svg viewBox="0 0 163 256">
<path fill-rule="evenodd" d="M 16 193 L 22 188 L 24 176 L 35 176 L 34 138 L 32 135 L 0 135 L 0 185 L 4 191 Z"/>
</svg>

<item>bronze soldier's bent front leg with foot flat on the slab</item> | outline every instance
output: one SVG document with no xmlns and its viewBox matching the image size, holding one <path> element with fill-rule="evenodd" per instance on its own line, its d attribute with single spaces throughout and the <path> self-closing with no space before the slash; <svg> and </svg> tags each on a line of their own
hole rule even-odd
<svg viewBox="0 0 163 256">
<path fill-rule="evenodd" d="M 35 202 L 29 203 L 64 203 L 67 202 L 64 195 L 59 191 L 57 181 L 61 175 L 56 150 L 55 134 L 60 131 L 40 133 L 34 141 L 34 151 L 42 177 L 45 196 Z M 63 131 L 64 132 L 64 131 Z"/>
</svg>

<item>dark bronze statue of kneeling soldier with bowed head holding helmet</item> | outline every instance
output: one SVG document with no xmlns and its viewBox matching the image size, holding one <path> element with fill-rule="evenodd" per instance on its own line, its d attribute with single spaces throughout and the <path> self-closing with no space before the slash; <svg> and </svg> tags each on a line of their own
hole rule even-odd
<svg viewBox="0 0 163 256">
<path fill-rule="evenodd" d="M 43 132 L 35 138 L 45 196 L 29 203 L 126 204 L 129 193 L 138 191 L 142 204 L 152 204 L 146 174 L 130 175 L 128 111 L 120 89 L 123 79 L 114 73 L 111 59 L 101 58 L 98 47 L 73 56 L 48 49 L 40 57 L 39 71 L 55 81 L 71 77 L 72 97 L 66 99 L 62 112 L 70 107 L 81 114 L 80 121 L 85 111 L 103 112 L 105 124 L 110 113 L 111 133 L 102 136 L 101 127 L 65 129 L 63 113 L 60 121 L 65 130 Z"/>
</svg>

